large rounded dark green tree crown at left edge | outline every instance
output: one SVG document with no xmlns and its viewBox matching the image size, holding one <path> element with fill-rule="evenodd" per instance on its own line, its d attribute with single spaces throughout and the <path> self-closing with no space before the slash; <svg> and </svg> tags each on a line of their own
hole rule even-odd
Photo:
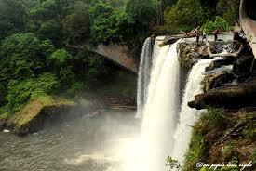
<svg viewBox="0 0 256 171">
<path fill-rule="evenodd" d="M 34 33 L 8 36 L 0 47 L 2 68 L 7 71 L 4 74 L 14 79 L 34 76 L 45 67 L 44 55 L 52 48 L 49 42 L 44 41 L 41 45 Z"/>
</svg>

